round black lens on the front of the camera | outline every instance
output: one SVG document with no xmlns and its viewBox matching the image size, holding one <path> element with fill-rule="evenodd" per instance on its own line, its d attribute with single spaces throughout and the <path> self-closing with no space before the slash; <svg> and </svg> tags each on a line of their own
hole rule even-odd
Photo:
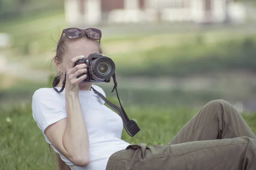
<svg viewBox="0 0 256 170">
<path fill-rule="evenodd" d="M 105 80 L 113 76 L 115 65 L 109 58 L 95 59 L 90 63 L 89 72 L 95 80 Z"/>
</svg>

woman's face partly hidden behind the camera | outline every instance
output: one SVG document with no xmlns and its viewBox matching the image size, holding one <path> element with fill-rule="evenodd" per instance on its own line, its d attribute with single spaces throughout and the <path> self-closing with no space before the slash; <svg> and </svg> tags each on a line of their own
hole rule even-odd
<svg viewBox="0 0 256 170">
<path fill-rule="evenodd" d="M 76 40 L 67 39 L 65 53 L 60 64 L 62 72 L 66 72 L 67 65 L 73 57 L 84 56 L 87 58 L 92 53 L 100 53 L 99 44 L 95 41 L 83 37 Z M 81 89 L 88 85 L 91 83 L 80 83 L 79 87 Z"/>
</svg>

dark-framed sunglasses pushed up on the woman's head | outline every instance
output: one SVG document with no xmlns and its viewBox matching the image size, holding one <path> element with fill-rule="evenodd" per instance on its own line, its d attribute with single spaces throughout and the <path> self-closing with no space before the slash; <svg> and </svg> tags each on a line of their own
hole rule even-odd
<svg viewBox="0 0 256 170">
<path fill-rule="evenodd" d="M 81 38 L 84 33 L 87 35 L 88 38 L 93 39 L 93 40 L 99 40 L 99 43 L 100 43 L 100 40 L 102 37 L 102 32 L 99 29 L 96 29 L 96 28 L 87 28 L 87 29 L 66 28 L 62 31 L 61 39 L 59 40 L 57 51 L 61 44 L 63 34 L 65 34 L 66 37 L 69 39 L 78 39 L 78 38 Z"/>
</svg>

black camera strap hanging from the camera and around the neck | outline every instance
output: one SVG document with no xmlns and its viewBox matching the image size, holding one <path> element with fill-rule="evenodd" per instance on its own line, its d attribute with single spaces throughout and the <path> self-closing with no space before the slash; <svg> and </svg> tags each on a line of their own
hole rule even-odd
<svg viewBox="0 0 256 170">
<path fill-rule="evenodd" d="M 57 79 L 55 77 L 55 79 Z M 52 83 L 52 87 L 54 88 L 54 90 L 57 92 L 57 93 L 61 93 L 64 88 L 65 88 L 65 84 L 66 84 L 66 74 L 65 74 L 65 79 L 64 81 L 62 82 L 62 88 L 60 91 L 58 91 L 58 89 L 55 88 L 55 86 L 58 84 L 57 80 L 53 81 Z M 119 116 L 122 118 L 122 122 L 124 124 L 124 127 L 125 127 L 125 130 L 126 132 L 128 133 L 128 135 L 130 135 L 131 137 L 135 136 L 139 131 L 140 131 L 140 128 L 138 127 L 137 123 L 134 121 L 134 120 L 130 120 L 127 116 L 127 114 L 125 113 L 125 110 L 124 108 L 122 107 L 122 104 L 120 102 L 120 99 L 119 99 L 119 95 L 118 95 L 118 92 L 117 92 L 117 82 L 116 82 L 116 75 L 113 74 L 113 81 L 114 81 L 114 88 L 113 90 L 111 91 L 111 93 L 115 90 L 116 91 L 116 96 L 117 96 L 117 99 L 119 101 L 119 104 L 120 104 L 120 107 L 113 104 L 112 102 L 110 102 L 108 99 L 106 99 L 105 96 L 103 96 L 101 93 L 99 93 L 98 91 L 96 91 L 93 87 L 91 87 L 91 89 L 96 93 L 98 94 L 109 106 L 111 106 L 111 108 L 113 108 L 118 114 Z"/>
</svg>

